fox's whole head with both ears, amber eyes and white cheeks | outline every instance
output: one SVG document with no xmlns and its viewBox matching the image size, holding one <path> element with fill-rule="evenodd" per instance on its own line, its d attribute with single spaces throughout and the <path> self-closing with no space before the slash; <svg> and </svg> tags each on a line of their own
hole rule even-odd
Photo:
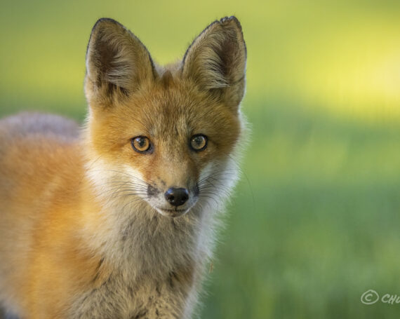
<svg viewBox="0 0 400 319">
<path fill-rule="evenodd" d="M 123 25 L 100 19 L 86 53 L 88 172 L 103 198 L 178 217 L 236 179 L 246 45 L 241 25 L 206 27 L 175 65 L 154 63 Z"/>
</svg>

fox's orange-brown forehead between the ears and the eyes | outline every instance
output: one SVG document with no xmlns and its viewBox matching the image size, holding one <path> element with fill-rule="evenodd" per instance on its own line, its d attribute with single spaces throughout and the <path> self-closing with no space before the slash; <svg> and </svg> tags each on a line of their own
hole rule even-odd
<svg viewBox="0 0 400 319">
<path fill-rule="evenodd" d="M 237 114 L 190 83 L 178 82 L 168 87 L 154 83 L 109 112 L 108 125 L 126 138 L 145 135 L 167 142 L 204 134 L 213 140 L 223 137 L 233 144 L 239 137 Z"/>
</svg>

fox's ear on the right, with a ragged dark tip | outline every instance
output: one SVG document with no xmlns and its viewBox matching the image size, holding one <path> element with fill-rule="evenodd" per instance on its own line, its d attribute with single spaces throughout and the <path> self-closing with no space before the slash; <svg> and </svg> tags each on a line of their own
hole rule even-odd
<svg viewBox="0 0 400 319">
<path fill-rule="evenodd" d="M 246 44 L 239 20 L 222 18 L 204 29 L 183 57 L 182 74 L 202 90 L 219 93 L 237 110 L 246 81 Z"/>
</svg>

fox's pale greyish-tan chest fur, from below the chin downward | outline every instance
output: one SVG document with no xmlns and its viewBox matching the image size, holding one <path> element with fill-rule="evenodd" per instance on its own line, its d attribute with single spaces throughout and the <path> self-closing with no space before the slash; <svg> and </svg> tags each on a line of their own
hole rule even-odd
<svg viewBox="0 0 400 319">
<path fill-rule="evenodd" d="M 107 276 L 76 297 L 68 318 L 182 318 L 201 269 L 193 225 L 123 225 L 103 245 Z"/>
</svg>

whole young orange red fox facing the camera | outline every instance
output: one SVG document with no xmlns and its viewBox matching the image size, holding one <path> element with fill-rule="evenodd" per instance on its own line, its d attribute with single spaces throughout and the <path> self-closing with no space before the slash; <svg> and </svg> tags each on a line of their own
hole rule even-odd
<svg viewBox="0 0 400 319">
<path fill-rule="evenodd" d="M 215 20 L 157 65 L 111 18 L 82 125 L 0 120 L 0 304 L 20 319 L 193 318 L 246 140 L 246 43 Z"/>
</svg>

